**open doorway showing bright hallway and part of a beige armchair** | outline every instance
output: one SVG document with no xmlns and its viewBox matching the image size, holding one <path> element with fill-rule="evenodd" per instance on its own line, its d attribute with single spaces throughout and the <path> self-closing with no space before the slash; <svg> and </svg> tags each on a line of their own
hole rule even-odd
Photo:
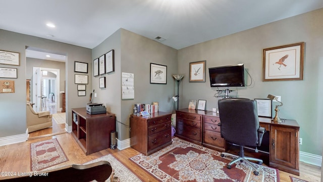
<svg viewBox="0 0 323 182">
<path fill-rule="evenodd" d="M 26 47 L 26 80 L 30 80 L 30 104 L 35 112 L 49 111 L 52 114 L 52 126 L 30 132 L 28 140 L 67 132 L 66 113 L 62 112 L 67 56 L 50 52 Z"/>
</svg>

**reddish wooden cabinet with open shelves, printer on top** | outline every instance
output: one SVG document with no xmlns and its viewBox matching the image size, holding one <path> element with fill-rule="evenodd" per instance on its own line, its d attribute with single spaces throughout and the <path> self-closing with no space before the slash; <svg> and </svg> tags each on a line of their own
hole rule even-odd
<svg viewBox="0 0 323 182">
<path fill-rule="evenodd" d="M 86 108 L 75 108 L 72 121 L 72 135 L 86 155 L 110 147 L 110 133 L 116 130 L 115 114 L 90 115 Z"/>
</svg>

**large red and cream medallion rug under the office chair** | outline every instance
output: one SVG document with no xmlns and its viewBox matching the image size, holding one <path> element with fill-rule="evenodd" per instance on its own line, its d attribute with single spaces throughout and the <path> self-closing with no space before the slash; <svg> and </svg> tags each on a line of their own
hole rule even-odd
<svg viewBox="0 0 323 182">
<path fill-rule="evenodd" d="M 245 162 L 226 166 L 232 158 L 222 158 L 220 152 L 173 138 L 173 144 L 149 156 L 143 154 L 130 160 L 151 173 L 159 181 L 274 181 L 278 169 L 255 164 L 259 175 Z"/>
</svg>

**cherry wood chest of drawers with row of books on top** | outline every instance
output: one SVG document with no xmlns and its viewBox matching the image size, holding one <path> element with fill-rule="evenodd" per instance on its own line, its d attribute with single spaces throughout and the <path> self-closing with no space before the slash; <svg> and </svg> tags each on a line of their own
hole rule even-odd
<svg viewBox="0 0 323 182">
<path fill-rule="evenodd" d="M 130 146 L 150 155 L 172 144 L 172 113 L 157 112 L 150 116 L 130 116 Z"/>
</svg>

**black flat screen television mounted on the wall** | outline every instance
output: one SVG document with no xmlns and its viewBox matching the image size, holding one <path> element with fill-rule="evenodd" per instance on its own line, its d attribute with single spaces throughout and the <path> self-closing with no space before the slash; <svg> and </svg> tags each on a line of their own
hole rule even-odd
<svg viewBox="0 0 323 182">
<path fill-rule="evenodd" d="M 208 68 L 211 87 L 244 86 L 243 64 Z"/>
</svg>

